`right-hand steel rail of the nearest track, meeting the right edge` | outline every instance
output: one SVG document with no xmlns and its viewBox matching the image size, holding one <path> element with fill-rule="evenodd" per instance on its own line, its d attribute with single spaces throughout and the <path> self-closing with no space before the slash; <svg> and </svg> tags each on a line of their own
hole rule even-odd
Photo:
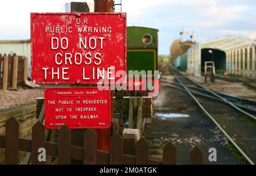
<svg viewBox="0 0 256 176">
<path fill-rule="evenodd" d="M 173 69 L 174 69 L 174 68 L 173 68 Z M 246 111 L 243 111 L 241 108 L 237 107 L 236 105 L 234 105 L 234 104 L 233 104 L 232 102 L 230 102 L 229 100 L 227 100 L 227 99 L 221 97 L 220 95 L 214 93 L 212 90 L 207 89 L 206 87 L 200 85 L 199 83 L 193 81 L 192 79 L 189 79 L 188 77 L 184 76 L 182 73 L 180 73 L 179 71 L 177 71 L 176 69 L 174 69 L 174 70 L 175 70 L 177 73 L 179 73 L 182 77 L 184 77 L 184 78 L 188 79 L 189 81 L 195 83 L 197 86 L 203 88 L 204 90 L 206 90 L 206 91 L 208 91 L 209 93 L 215 95 L 216 97 L 218 97 L 218 98 L 224 100 L 225 103 L 228 103 L 230 106 L 236 108 L 236 110 L 238 110 L 238 111 L 242 112 L 243 114 L 246 114 L 246 115 L 249 116 L 250 118 L 253 118 L 254 120 L 256 120 L 256 117 L 255 117 L 254 115 L 251 115 L 251 114 L 249 114 L 249 113 L 246 112 Z"/>
</svg>

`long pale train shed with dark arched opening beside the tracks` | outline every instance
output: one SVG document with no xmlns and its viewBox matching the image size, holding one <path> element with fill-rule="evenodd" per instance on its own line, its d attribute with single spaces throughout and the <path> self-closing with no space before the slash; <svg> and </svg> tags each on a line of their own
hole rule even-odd
<svg viewBox="0 0 256 176">
<path fill-rule="evenodd" d="M 195 43 L 179 55 L 173 64 L 194 76 L 201 77 L 205 61 L 214 61 L 215 70 L 221 74 L 255 77 L 256 41 L 233 36 Z"/>
</svg>

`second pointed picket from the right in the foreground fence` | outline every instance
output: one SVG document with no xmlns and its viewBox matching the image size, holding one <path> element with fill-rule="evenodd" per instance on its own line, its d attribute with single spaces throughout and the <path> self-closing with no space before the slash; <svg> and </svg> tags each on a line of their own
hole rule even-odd
<svg viewBox="0 0 256 176">
<path fill-rule="evenodd" d="M 176 165 L 176 147 L 170 141 L 163 148 L 163 164 Z"/>
</svg>

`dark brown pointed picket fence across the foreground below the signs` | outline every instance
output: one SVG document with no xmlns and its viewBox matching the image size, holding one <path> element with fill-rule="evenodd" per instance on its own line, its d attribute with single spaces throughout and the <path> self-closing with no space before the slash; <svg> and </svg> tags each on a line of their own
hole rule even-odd
<svg viewBox="0 0 256 176">
<path fill-rule="evenodd" d="M 127 164 L 127 165 L 170 165 L 176 164 L 176 148 L 168 142 L 163 148 L 163 161 L 149 158 L 149 146 L 144 137 L 138 141 L 114 133 L 111 140 L 111 151 L 97 150 L 97 135 L 92 129 L 84 133 L 83 146 L 72 145 L 71 129 L 63 125 L 58 131 L 57 143 L 46 141 L 46 129 L 38 121 L 32 127 L 32 139 L 19 138 L 19 122 L 10 118 L 6 123 L 5 136 L 0 135 L 0 148 L 5 148 L 5 164 L 19 164 L 19 151 L 31 152 L 31 164 L 38 161 L 38 149 L 45 148 L 47 156 L 57 157 L 57 164 L 72 164 L 72 160 L 83 164 Z M 190 153 L 190 164 L 203 164 L 203 152 L 195 146 Z"/>
</svg>

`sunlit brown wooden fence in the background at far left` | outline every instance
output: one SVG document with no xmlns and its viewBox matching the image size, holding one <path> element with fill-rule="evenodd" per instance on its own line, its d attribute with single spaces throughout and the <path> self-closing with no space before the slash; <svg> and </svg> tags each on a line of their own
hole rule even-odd
<svg viewBox="0 0 256 176">
<path fill-rule="evenodd" d="M 27 57 L 0 55 L 0 89 L 17 89 L 28 78 Z"/>
</svg>

